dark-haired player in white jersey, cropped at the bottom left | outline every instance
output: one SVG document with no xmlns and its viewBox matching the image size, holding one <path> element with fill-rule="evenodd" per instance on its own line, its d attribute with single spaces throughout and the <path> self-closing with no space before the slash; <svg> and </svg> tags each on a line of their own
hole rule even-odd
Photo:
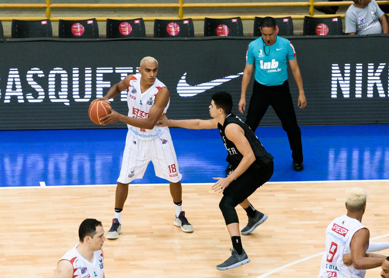
<svg viewBox="0 0 389 278">
<path fill-rule="evenodd" d="M 62 256 L 53 278 L 105 278 L 103 242 L 100 221 L 85 219 L 78 230 L 80 242 Z"/>
</svg>

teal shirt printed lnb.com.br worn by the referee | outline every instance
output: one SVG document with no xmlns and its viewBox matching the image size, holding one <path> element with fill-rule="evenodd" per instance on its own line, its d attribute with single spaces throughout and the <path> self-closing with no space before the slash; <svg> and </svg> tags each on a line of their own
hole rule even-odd
<svg viewBox="0 0 389 278">
<path fill-rule="evenodd" d="M 268 54 L 268 55 L 266 55 Z M 281 85 L 288 79 L 287 61 L 296 59 L 291 42 L 276 36 L 275 43 L 266 46 L 262 37 L 249 43 L 246 64 L 255 64 L 255 80 L 266 86 Z"/>
</svg>

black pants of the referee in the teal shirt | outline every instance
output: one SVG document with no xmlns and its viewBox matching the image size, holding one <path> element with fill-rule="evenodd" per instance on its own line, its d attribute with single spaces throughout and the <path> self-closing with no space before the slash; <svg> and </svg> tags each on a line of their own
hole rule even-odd
<svg viewBox="0 0 389 278">
<path fill-rule="evenodd" d="M 265 86 L 254 81 L 249 110 L 245 123 L 254 132 L 271 105 L 281 120 L 282 128 L 286 131 L 289 145 L 292 150 L 292 158 L 295 162 L 303 162 L 303 147 L 301 145 L 301 130 L 297 125 L 296 113 L 292 96 L 289 91 L 289 83 L 286 80 L 278 86 Z"/>
</svg>

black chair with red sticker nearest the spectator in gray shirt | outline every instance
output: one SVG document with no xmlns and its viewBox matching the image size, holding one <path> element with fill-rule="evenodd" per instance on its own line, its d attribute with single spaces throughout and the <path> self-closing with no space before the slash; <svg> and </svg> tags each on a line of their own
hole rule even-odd
<svg viewBox="0 0 389 278">
<path fill-rule="evenodd" d="M 333 18 L 305 16 L 303 35 L 342 35 L 342 19 L 340 16 Z"/>
</svg>

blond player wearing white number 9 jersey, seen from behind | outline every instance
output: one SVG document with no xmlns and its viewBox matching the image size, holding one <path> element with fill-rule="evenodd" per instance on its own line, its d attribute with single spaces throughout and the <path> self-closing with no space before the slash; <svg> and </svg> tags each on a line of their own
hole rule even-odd
<svg viewBox="0 0 389 278">
<path fill-rule="evenodd" d="M 385 256 L 369 254 L 370 232 L 361 221 L 366 209 L 366 190 L 347 191 L 347 214 L 335 218 L 326 229 L 326 251 L 321 260 L 318 278 L 363 278 L 366 270 L 381 266 Z M 343 264 L 343 255 L 351 253 L 352 265 Z"/>
</svg>

